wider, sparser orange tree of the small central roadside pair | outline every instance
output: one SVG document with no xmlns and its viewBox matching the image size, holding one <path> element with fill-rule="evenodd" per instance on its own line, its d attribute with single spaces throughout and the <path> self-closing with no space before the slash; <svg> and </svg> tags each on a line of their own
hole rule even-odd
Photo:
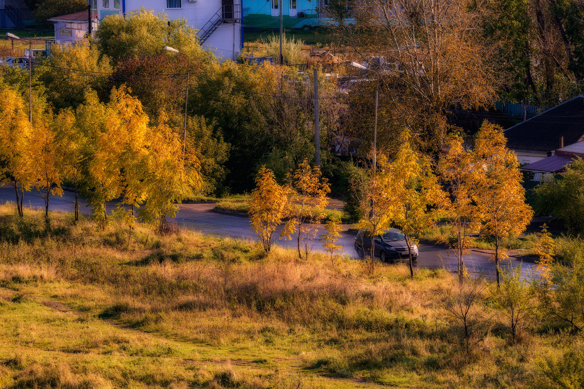
<svg viewBox="0 0 584 389">
<path fill-rule="evenodd" d="M 289 239 L 296 234 L 298 259 L 302 259 L 301 244 L 306 259 L 312 249 L 312 240 L 317 237 L 317 224 L 326 216 L 324 210 L 329 201 L 326 195 L 331 192 L 331 186 L 326 178 L 321 178 L 321 169 L 312 168 L 307 159 L 288 180 L 290 220 L 284 226 L 283 235 Z"/>
</svg>

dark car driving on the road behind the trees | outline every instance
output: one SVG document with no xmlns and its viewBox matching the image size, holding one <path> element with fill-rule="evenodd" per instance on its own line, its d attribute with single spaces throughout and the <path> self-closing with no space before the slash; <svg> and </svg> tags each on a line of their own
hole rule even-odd
<svg viewBox="0 0 584 389">
<path fill-rule="evenodd" d="M 397 228 L 390 228 L 385 230 L 381 235 L 377 235 L 373 239 L 374 251 L 373 255 L 379 257 L 382 262 L 395 261 L 397 259 L 408 258 L 409 251 L 408 244 L 405 241 L 405 235 Z M 411 244 L 412 261 L 418 259 L 418 246 Z M 371 235 L 367 230 L 361 230 L 355 237 L 355 251 L 359 258 L 364 258 L 365 255 L 371 255 Z"/>
</svg>

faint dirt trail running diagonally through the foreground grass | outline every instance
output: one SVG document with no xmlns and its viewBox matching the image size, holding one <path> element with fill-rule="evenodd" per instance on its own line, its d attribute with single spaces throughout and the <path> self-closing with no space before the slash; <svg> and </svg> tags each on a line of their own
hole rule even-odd
<svg viewBox="0 0 584 389">
<path fill-rule="evenodd" d="M 146 332 L 146 331 L 142 331 L 141 329 L 138 328 L 133 328 L 130 327 L 128 325 L 125 324 L 121 324 L 119 322 L 116 322 L 112 319 L 106 319 L 106 318 L 97 318 L 95 315 L 91 315 L 88 317 L 88 315 L 84 314 L 84 312 L 80 312 L 77 310 L 74 310 L 72 308 L 69 308 L 68 305 L 62 303 L 61 301 L 55 301 L 54 298 L 52 297 L 47 297 L 47 296 L 36 296 L 37 297 L 37 301 L 40 301 L 40 304 L 43 305 L 44 307 L 49 308 L 50 310 L 57 312 L 58 314 L 65 314 L 65 315 L 74 315 L 75 317 L 78 318 L 85 318 L 85 319 L 89 319 L 89 321 L 95 321 L 95 322 L 99 322 L 99 323 L 103 323 L 106 324 L 112 328 L 115 328 L 116 331 L 128 331 L 128 332 L 132 332 L 134 334 L 140 334 L 140 336 L 147 338 L 151 341 L 154 342 L 162 342 L 162 343 L 168 343 L 170 346 L 175 346 L 176 349 L 189 349 L 191 350 L 191 352 L 193 352 L 193 354 L 196 355 L 200 355 L 200 356 L 204 356 L 204 355 L 208 355 L 208 357 L 203 357 L 200 360 L 193 360 L 193 359 L 182 359 L 179 362 L 177 362 L 177 364 L 181 365 L 181 366 L 185 366 L 185 367 L 192 367 L 192 366 L 197 366 L 197 367 L 203 367 L 205 365 L 214 365 L 214 366 L 224 366 L 224 367 L 228 367 L 228 366 L 237 366 L 237 367 L 241 367 L 241 368 L 248 368 L 248 369 L 252 369 L 252 370 L 256 370 L 256 371 L 264 371 L 264 373 L 270 373 L 271 371 L 273 371 L 274 369 L 281 369 L 282 367 L 286 367 L 287 369 L 290 369 L 290 371 L 298 371 L 298 358 L 297 357 L 271 357 L 269 355 L 266 355 L 265 357 L 267 357 L 267 359 L 263 359 L 263 361 L 261 359 L 244 359 L 241 356 L 235 355 L 234 353 L 232 353 L 231 357 L 215 357 L 213 358 L 213 353 L 216 350 L 218 353 L 225 353 L 227 352 L 228 354 L 230 353 L 230 350 L 225 349 L 225 348 L 221 348 L 221 347 L 214 347 L 214 346 L 209 346 L 209 345 L 201 345 L 201 344 L 197 344 L 194 343 L 192 341 L 186 341 L 183 339 L 178 339 L 178 338 L 172 338 L 172 337 L 167 337 L 164 336 L 162 334 L 159 334 L 157 332 Z M 263 366 L 267 364 L 268 366 Z M 274 364 L 276 364 L 278 367 L 275 367 Z M 300 366 L 300 369 L 302 371 L 303 374 L 303 379 L 306 380 L 307 378 L 313 378 L 315 380 L 318 380 L 319 383 L 323 384 L 322 387 L 339 387 L 339 385 L 342 385 L 343 387 L 347 387 L 347 385 L 349 385 L 348 387 L 354 387 L 354 388 L 377 388 L 377 387 L 383 387 L 384 385 L 379 385 L 376 383 L 370 383 L 367 382 L 365 380 L 362 380 L 361 378 L 346 378 L 346 377 L 339 377 L 339 376 L 325 376 L 323 374 L 319 374 L 318 371 L 307 371 L 306 369 L 303 369 L 303 366 Z M 305 387 L 305 385 L 300 385 L 300 387 Z M 409 389 L 413 389 L 413 388 L 409 388 Z"/>
</svg>

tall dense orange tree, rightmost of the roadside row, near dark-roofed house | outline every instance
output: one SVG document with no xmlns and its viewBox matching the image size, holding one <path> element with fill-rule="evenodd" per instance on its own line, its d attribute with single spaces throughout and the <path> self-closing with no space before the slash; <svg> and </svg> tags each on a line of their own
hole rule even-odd
<svg viewBox="0 0 584 389">
<path fill-rule="evenodd" d="M 506 143 L 503 128 L 485 121 L 477 134 L 473 154 L 477 181 L 472 199 L 477 204 L 481 234 L 492 237 L 495 244 L 497 285 L 502 239 L 521 234 L 533 217 L 525 202 L 519 161 Z"/>
</svg>

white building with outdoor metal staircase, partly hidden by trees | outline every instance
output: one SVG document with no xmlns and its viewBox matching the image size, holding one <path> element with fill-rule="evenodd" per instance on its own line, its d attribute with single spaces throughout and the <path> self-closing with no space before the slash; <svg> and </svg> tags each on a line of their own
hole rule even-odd
<svg viewBox="0 0 584 389">
<path fill-rule="evenodd" d="M 237 60 L 241 52 L 241 0 L 91 0 L 93 17 L 124 15 L 144 7 L 166 13 L 171 20 L 185 18 L 199 30 L 203 47 L 216 51 L 220 58 Z"/>
</svg>

